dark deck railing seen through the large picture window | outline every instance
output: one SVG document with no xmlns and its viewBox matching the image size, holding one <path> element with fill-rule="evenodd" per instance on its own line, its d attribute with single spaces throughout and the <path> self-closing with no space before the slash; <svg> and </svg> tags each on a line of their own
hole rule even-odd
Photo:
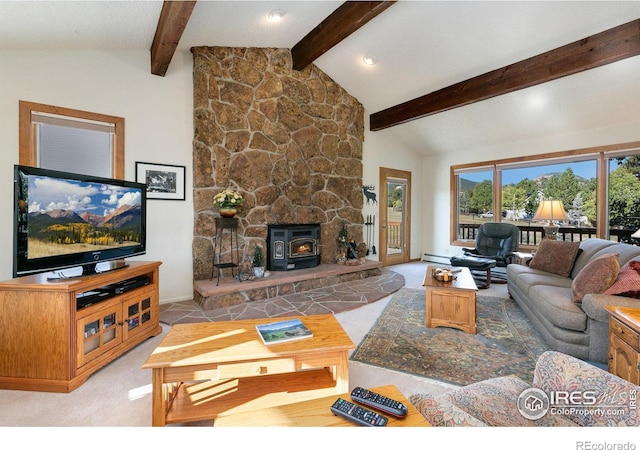
<svg viewBox="0 0 640 450">
<path fill-rule="evenodd" d="M 462 240 L 475 241 L 480 228 L 479 223 L 460 224 L 459 236 Z M 542 226 L 517 225 L 520 229 L 520 245 L 538 245 L 544 238 Z M 637 242 L 631 240 L 631 234 L 636 230 L 630 229 L 610 229 L 610 240 L 615 242 L 624 242 L 627 244 L 637 245 Z M 585 239 L 596 237 L 596 229 L 592 227 L 560 227 L 558 230 L 557 240 L 568 242 L 580 242 Z"/>
</svg>

